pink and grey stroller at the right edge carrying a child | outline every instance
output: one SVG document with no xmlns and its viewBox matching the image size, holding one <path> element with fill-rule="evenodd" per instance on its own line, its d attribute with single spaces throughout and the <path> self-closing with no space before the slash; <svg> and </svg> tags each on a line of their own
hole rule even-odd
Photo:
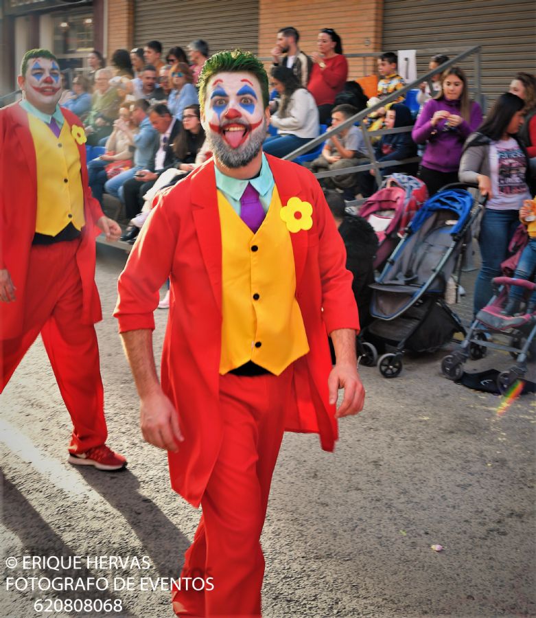
<svg viewBox="0 0 536 618">
<path fill-rule="evenodd" d="M 511 274 L 515 269 L 523 246 L 526 244 L 524 230 L 521 236 L 523 242 L 514 237 L 509 247 L 513 251 L 517 249 L 517 252 L 502 263 L 503 273 Z M 460 347 L 452 354 L 447 354 L 441 361 L 441 371 L 446 378 L 459 380 L 463 375 L 463 365 L 467 358 L 474 361 L 484 358 L 489 348 L 509 352 L 516 361 L 515 365 L 497 376 L 497 387 L 500 393 L 505 393 L 514 382 L 524 378 L 527 361 L 533 361 L 536 356 L 536 312 L 528 313 L 525 310 L 522 314 L 515 316 L 501 313 L 508 300 L 510 286 L 513 284 L 525 288 L 526 299 L 536 289 L 535 283 L 523 279 L 506 276 L 493 279 L 493 297 L 476 314 Z"/>
</svg>

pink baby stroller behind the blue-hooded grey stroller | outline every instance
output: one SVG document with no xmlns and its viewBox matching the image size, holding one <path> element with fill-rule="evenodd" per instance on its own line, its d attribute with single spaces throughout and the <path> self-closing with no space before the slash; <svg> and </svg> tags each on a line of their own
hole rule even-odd
<svg viewBox="0 0 536 618">
<path fill-rule="evenodd" d="M 359 216 L 375 230 L 379 247 L 374 268 L 381 270 L 412 217 L 428 198 L 426 185 L 413 176 L 392 174 L 379 191 L 362 204 Z"/>
</svg>

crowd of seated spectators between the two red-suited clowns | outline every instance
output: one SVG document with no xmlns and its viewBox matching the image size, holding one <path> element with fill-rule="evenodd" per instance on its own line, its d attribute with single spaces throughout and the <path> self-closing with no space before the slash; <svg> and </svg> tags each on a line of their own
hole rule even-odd
<svg viewBox="0 0 536 618">
<path fill-rule="evenodd" d="M 60 104 L 82 119 L 87 146 L 104 148 L 88 164 L 101 203 L 110 194 L 134 217 L 161 172 L 191 171 L 205 138 L 195 84 L 208 56 L 201 39 L 187 52 L 176 45 L 164 55 L 154 40 L 130 52 L 116 49 L 108 62 L 96 49 L 88 55 L 89 71 L 73 78 Z"/>
</svg>

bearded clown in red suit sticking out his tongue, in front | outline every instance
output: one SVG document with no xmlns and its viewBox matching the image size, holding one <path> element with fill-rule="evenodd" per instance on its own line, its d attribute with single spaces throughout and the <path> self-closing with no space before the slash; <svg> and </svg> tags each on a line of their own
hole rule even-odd
<svg viewBox="0 0 536 618">
<path fill-rule="evenodd" d="M 220 52 L 199 84 L 213 158 L 158 198 L 119 277 L 115 316 L 143 437 L 167 450 L 173 488 L 202 506 L 179 581 L 205 577 L 205 586 L 175 589 L 174 611 L 251 617 L 261 615 L 259 538 L 283 431 L 319 433 L 333 450 L 337 418 L 362 409 L 359 323 L 321 188 L 305 168 L 261 150 L 261 63 Z M 159 381 L 153 311 L 167 277 Z"/>
</svg>

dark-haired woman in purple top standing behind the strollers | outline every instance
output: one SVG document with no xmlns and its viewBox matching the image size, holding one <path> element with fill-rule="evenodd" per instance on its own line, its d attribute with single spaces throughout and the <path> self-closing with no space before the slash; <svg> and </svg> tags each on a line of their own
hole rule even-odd
<svg viewBox="0 0 536 618">
<path fill-rule="evenodd" d="M 430 196 L 458 182 L 463 144 L 482 122 L 480 105 L 469 100 L 462 69 L 447 69 L 441 80 L 441 92 L 426 102 L 411 134 L 416 144 L 426 144 L 419 178 Z"/>
</svg>

